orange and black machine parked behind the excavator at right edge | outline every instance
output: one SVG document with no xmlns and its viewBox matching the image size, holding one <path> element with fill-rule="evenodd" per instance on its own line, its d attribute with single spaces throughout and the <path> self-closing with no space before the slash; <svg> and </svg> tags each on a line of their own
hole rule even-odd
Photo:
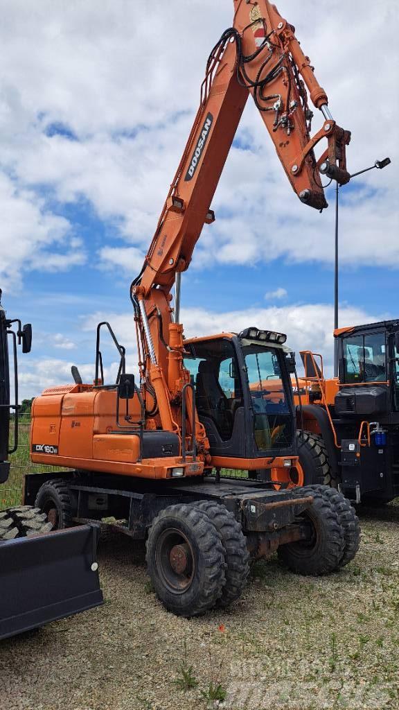
<svg viewBox="0 0 399 710">
<path fill-rule="evenodd" d="M 341 328 L 334 337 L 338 378 L 324 378 L 322 356 L 301 353 L 300 427 L 326 457 L 326 481 L 356 503 L 388 503 L 399 496 L 399 322 Z"/>
</svg>

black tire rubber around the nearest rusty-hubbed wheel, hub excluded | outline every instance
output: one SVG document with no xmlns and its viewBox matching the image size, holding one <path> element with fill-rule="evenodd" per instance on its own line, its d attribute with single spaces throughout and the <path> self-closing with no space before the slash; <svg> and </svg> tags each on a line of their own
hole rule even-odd
<svg viewBox="0 0 399 710">
<path fill-rule="evenodd" d="M 182 530 L 195 555 L 195 575 L 190 587 L 182 594 L 174 594 L 168 589 L 155 561 L 158 538 L 168 528 Z M 158 598 L 168 611 L 186 618 L 200 616 L 222 596 L 226 570 L 222 537 L 203 510 L 184 503 L 161 510 L 148 532 L 146 547 L 148 574 Z"/>
</svg>

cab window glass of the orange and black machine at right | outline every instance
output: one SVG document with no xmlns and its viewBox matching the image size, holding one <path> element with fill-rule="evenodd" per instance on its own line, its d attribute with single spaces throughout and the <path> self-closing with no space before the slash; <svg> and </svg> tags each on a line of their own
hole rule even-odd
<svg viewBox="0 0 399 710">
<path fill-rule="evenodd" d="M 344 338 L 344 382 L 385 382 L 385 332 Z"/>
</svg>

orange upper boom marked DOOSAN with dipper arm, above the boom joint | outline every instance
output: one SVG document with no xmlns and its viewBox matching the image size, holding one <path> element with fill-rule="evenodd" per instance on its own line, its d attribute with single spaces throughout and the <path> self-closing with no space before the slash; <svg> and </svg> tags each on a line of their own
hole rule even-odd
<svg viewBox="0 0 399 710">
<path fill-rule="evenodd" d="M 332 119 L 295 28 L 267 0 L 235 0 L 234 8 L 234 26 L 209 55 L 200 109 L 146 256 L 141 276 L 146 293 L 153 285 L 171 288 L 175 273 L 188 267 L 202 226 L 214 219 L 209 207 L 249 94 L 302 202 L 327 207 L 313 152 L 322 138 L 328 140 L 319 161 L 323 172 L 340 183 L 349 180 L 350 133 Z M 326 118 L 313 138 L 305 84 Z"/>
</svg>

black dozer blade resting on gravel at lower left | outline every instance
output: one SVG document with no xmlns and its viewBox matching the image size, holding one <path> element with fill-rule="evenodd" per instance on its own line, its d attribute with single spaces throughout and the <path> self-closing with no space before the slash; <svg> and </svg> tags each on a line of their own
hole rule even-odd
<svg viewBox="0 0 399 710">
<path fill-rule="evenodd" d="M 0 542 L 0 639 L 103 603 L 91 525 Z"/>
</svg>

